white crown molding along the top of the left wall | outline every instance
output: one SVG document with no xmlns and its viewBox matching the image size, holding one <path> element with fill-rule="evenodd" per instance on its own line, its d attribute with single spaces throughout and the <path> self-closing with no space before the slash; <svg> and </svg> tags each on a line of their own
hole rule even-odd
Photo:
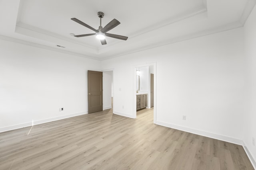
<svg viewBox="0 0 256 170">
<path fill-rule="evenodd" d="M 29 42 L 29 41 L 24 41 L 24 40 L 12 38 L 12 37 L 6 37 L 4 35 L 0 35 L 0 39 L 4 40 L 4 41 L 10 41 L 13 43 L 19 43 L 19 44 L 29 45 L 29 46 L 33 46 L 33 47 L 37 47 L 37 48 L 41 48 L 41 49 L 65 53 L 65 54 L 69 54 L 69 55 L 75 55 L 75 56 L 83 57 L 83 58 L 87 58 L 87 59 L 93 59 L 93 60 L 98 60 L 98 61 L 101 60 L 100 58 L 98 58 L 96 56 L 88 56 L 88 55 L 83 55 L 80 53 L 74 53 L 71 51 L 66 51 L 66 50 L 62 50 L 62 49 L 58 49 L 58 48 L 54 48 L 54 47 L 48 47 L 46 45 L 36 44 L 36 43 Z"/>
</svg>

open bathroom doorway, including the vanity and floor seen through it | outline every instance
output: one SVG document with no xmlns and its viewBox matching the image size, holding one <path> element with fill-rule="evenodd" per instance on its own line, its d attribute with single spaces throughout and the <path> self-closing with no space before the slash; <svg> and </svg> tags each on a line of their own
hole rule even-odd
<svg viewBox="0 0 256 170">
<path fill-rule="evenodd" d="M 136 66 L 136 116 L 155 123 L 155 64 Z"/>
</svg>

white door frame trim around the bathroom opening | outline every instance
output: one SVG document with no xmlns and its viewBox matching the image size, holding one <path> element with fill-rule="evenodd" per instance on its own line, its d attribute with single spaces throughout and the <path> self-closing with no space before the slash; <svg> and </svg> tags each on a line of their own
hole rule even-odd
<svg viewBox="0 0 256 170">
<path fill-rule="evenodd" d="M 146 66 L 154 66 L 154 123 L 156 124 L 156 62 L 148 63 L 148 64 L 139 64 L 134 65 L 134 88 L 133 88 L 133 113 L 132 117 L 135 119 L 137 117 L 137 99 L 136 99 L 136 68 L 138 67 L 146 67 Z"/>
</svg>

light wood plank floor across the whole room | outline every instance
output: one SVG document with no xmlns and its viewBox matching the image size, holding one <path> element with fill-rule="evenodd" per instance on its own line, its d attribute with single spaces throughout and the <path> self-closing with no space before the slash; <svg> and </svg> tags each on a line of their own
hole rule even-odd
<svg viewBox="0 0 256 170">
<path fill-rule="evenodd" d="M 253 170 L 242 146 L 155 125 L 153 108 L 30 129 L 0 133 L 0 170 Z"/>
</svg>

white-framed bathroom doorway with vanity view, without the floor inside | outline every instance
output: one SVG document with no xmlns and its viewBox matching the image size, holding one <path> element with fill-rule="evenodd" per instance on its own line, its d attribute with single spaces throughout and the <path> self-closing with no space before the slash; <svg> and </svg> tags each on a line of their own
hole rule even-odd
<svg viewBox="0 0 256 170">
<path fill-rule="evenodd" d="M 154 111 L 153 122 L 156 123 L 156 63 L 134 67 L 134 87 L 133 118 L 137 117 L 137 111 L 151 108 Z"/>
</svg>

